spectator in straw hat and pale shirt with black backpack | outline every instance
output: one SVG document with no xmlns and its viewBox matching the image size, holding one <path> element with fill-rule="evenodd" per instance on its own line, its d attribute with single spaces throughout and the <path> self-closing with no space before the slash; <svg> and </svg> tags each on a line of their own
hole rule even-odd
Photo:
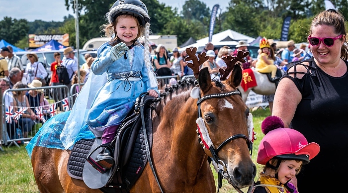
<svg viewBox="0 0 348 193">
<path fill-rule="evenodd" d="M 76 74 L 78 70 L 78 64 L 75 61 L 75 51 L 72 47 L 67 47 L 63 51 L 63 55 L 65 58 L 63 58 L 61 65 L 67 68 L 68 75 L 70 77 L 70 83 L 67 85 L 69 90 L 71 87 L 71 82 L 73 81 L 74 74 Z"/>
</svg>

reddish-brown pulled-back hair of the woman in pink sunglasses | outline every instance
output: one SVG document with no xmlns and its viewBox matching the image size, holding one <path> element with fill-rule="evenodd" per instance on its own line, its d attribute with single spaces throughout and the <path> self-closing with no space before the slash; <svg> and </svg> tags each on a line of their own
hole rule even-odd
<svg viewBox="0 0 348 193">
<path fill-rule="evenodd" d="M 328 9 L 317 14 L 311 24 L 309 35 L 313 33 L 313 27 L 318 25 L 329 25 L 335 28 L 334 33 L 336 34 L 344 34 L 347 38 L 347 31 L 345 26 L 345 17 L 337 12 L 335 9 Z M 341 47 L 341 58 L 343 60 L 348 60 L 348 44 L 346 39 L 343 37 L 340 38 L 341 41 L 344 41 L 344 44 Z"/>
</svg>

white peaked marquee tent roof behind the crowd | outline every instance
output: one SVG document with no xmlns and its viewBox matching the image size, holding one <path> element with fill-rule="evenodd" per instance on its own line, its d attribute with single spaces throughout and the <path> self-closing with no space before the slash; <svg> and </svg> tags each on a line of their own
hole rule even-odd
<svg viewBox="0 0 348 193">
<path fill-rule="evenodd" d="M 211 38 L 211 43 L 214 46 L 235 46 L 238 44 L 239 40 L 246 40 L 248 43 L 252 42 L 255 40 L 255 38 L 238 33 L 236 31 L 233 31 L 231 29 L 216 33 L 213 35 L 213 37 Z M 196 41 L 196 43 L 182 47 L 179 49 L 179 51 L 183 51 L 188 47 L 197 47 L 198 51 L 203 50 L 203 48 L 205 47 L 205 44 L 207 44 L 209 41 L 209 37 L 205 37 L 202 39 L 199 39 Z"/>
</svg>

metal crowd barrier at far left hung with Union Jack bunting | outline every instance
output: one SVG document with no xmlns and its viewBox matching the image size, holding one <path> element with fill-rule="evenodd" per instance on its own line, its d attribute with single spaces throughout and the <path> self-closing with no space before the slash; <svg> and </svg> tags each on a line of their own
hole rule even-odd
<svg viewBox="0 0 348 193">
<path fill-rule="evenodd" d="M 9 103 L 11 100 L 16 100 L 13 93 L 20 95 L 21 91 L 36 91 L 36 97 L 27 97 L 28 109 L 23 105 L 17 106 Z M 40 95 L 42 99 L 40 100 Z M 37 101 L 36 99 L 39 99 Z M 36 102 L 34 101 L 36 100 Z M 30 106 L 33 103 L 35 106 Z M 2 95 L 1 112 L 2 112 L 2 140 L 4 145 L 16 145 L 19 143 L 31 140 L 37 133 L 41 125 L 55 114 L 70 110 L 72 106 L 72 98 L 69 88 L 65 85 L 39 87 L 39 88 L 24 88 L 24 89 L 8 89 Z M 30 110 L 29 110 L 30 109 Z M 30 112 L 29 112 L 30 111 Z M 32 120 L 23 114 L 35 113 L 35 120 Z M 30 115 L 30 114 L 29 114 Z M 34 118 L 34 117 L 33 117 Z"/>
</svg>

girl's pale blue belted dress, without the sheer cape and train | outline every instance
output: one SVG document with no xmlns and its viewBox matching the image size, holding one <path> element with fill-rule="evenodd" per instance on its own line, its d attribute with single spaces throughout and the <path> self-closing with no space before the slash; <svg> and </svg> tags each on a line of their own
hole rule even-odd
<svg viewBox="0 0 348 193">
<path fill-rule="evenodd" d="M 134 107 L 137 97 L 151 88 L 148 68 L 144 61 L 144 47 L 136 43 L 116 61 L 111 61 L 109 44 L 101 46 L 100 55 L 91 65 L 95 75 L 107 73 L 107 82 L 101 87 L 91 104 L 87 124 L 96 137 L 101 137 L 104 129 L 122 122 Z"/>
</svg>

